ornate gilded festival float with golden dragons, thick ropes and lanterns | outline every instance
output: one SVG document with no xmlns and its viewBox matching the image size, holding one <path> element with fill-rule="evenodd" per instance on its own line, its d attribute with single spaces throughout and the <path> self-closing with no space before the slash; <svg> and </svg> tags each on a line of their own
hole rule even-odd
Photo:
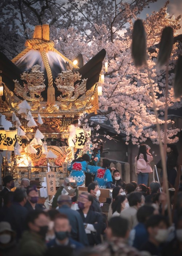
<svg viewBox="0 0 182 256">
<path fill-rule="evenodd" d="M 57 186 L 63 182 L 74 157 L 66 143 L 68 127 L 83 113 L 97 111 L 105 54 L 101 50 L 85 65 L 80 54 L 74 64 L 54 48 L 49 25 L 36 26 L 11 61 L 0 53 L 0 113 L 12 123 L 0 130 L 0 150 L 11 152 L 3 158 L 2 177 L 11 174 L 18 183 L 28 178 L 38 185 L 50 170 Z M 84 130 L 78 130 L 76 148 L 85 140 Z"/>
</svg>

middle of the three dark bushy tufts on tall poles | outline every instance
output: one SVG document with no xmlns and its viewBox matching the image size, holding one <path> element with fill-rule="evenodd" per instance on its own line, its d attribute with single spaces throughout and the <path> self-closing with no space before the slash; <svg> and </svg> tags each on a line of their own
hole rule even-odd
<svg viewBox="0 0 182 256">
<path fill-rule="evenodd" d="M 161 67 L 167 63 L 173 48 L 173 29 L 165 27 L 162 31 L 161 42 L 159 44 L 158 65 Z"/>
</svg>

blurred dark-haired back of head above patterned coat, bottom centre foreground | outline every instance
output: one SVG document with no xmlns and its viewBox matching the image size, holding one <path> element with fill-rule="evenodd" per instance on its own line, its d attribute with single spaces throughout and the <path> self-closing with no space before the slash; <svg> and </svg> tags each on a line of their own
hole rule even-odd
<svg viewBox="0 0 182 256">
<path fill-rule="evenodd" d="M 128 221 L 122 217 L 112 217 L 108 222 L 112 231 L 112 237 L 125 238 L 128 231 Z"/>
</svg>

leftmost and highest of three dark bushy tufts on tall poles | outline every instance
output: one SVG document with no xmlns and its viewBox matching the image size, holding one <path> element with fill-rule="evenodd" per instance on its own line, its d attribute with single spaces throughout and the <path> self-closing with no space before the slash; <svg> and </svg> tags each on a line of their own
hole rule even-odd
<svg viewBox="0 0 182 256">
<path fill-rule="evenodd" d="M 136 67 L 146 64 L 146 33 L 141 19 L 134 23 L 131 50 Z"/>
</svg>

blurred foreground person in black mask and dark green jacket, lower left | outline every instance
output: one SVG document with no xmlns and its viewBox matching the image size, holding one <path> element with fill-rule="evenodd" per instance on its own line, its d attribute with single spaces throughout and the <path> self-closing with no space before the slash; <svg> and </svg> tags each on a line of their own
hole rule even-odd
<svg viewBox="0 0 182 256">
<path fill-rule="evenodd" d="M 27 230 L 19 243 L 20 256 L 43 256 L 46 252 L 46 233 L 49 219 L 42 210 L 30 211 L 27 215 Z"/>
</svg>

